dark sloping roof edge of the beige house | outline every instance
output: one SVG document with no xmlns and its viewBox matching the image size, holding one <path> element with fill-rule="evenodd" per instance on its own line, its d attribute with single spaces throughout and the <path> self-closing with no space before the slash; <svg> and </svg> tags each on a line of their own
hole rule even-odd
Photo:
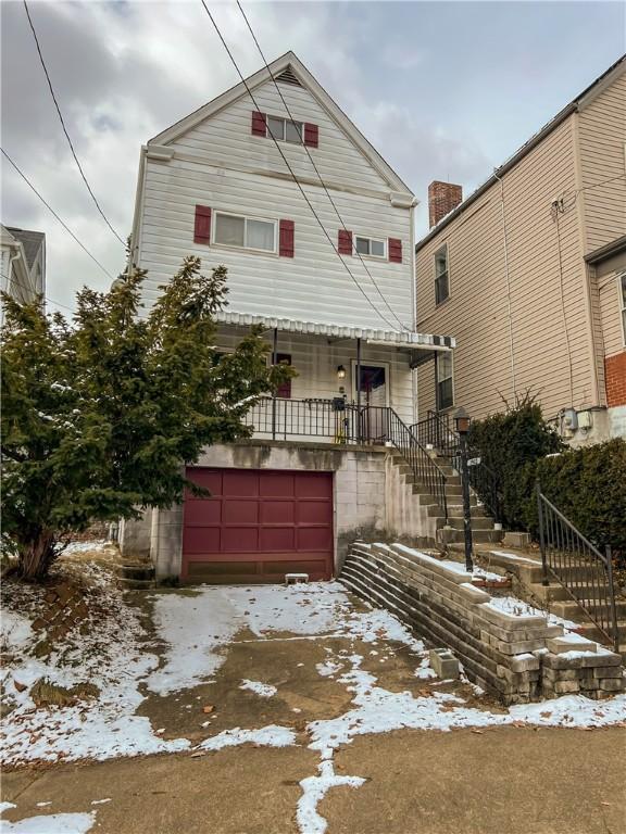
<svg viewBox="0 0 626 834">
<path fill-rule="evenodd" d="M 563 110 L 559 111 L 559 113 L 552 119 L 550 119 L 547 125 L 543 125 L 543 127 L 538 130 L 538 132 L 531 136 L 530 139 L 528 139 L 528 141 L 525 142 L 522 148 L 519 148 L 519 150 L 513 154 L 513 156 L 510 156 L 504 163 L 502 163 L 499 168 L 496 168 L 494 173 L 489 177 L 489 179 L 486 179 L 481 186 L 478 186 L 478 188 L 473 191 L 470 197 L 465 198 L 465 200 L 459 203 L 459 205 L 453 211 L 442 217 L 439 223 L 422 238 L 422 240 L 418 240 L 417 243 L 415 243 L 415 252 L 426 245 L 426 243 L 428 243 L 429 240 L 438 235 L 441 229 L 446 228 L 446 226 L 448 226 L 448 224 L 450 224 L 454 217 L 458 217 L 465 211 L 465 208 L 472 205 L 473 202 L 478 200 L 478 198 L 481 197 L 489 188 L 491 188 L 491 186 L 494 185 L 503 174 L 506 174 L 508 170 L 513 168 L 521 160 L 524 159 L 524 156 L 526 156 L 527 153 L 533 150 L 533 148 L 536 148 L 539 142 L 541 142 L 549 134 L 552 132 L 552 130 L 559 127 L 562 122 L 571 116 L 572 113 L 579 112 L 588 106 L 597 96 L 605 90 L 624 73 L 626 73 L 626 54 L 617 59 L 617 61 L 615 61 L 615 63 L 612 64 L 604 73 L 602 73 L 601 76 L 592 81 L 589 87 L 585 88 L 581 93 L 576 96 L 576 98 L 569 102 L 569 104 L 563 108 Z"/>
</svg>

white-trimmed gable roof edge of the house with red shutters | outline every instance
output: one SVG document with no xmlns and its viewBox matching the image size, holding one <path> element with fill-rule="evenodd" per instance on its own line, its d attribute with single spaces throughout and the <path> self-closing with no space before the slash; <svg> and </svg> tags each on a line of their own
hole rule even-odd
<svg viewBox="0 0 626 834">
<path fill-rule="evenodd" d="M 316 99 L 317 103 L 328 113 L 330 118 L 336 122 L 339 127 L 350 137 L 363 155 L 370 161 L 373 167 L 380 174 L 380 176 L 397 191 L 413 195 L 413 192 L 409 186 L 396 174 L 393 168 L 383 159 L 378 151 L 367 141 L 354 123 L 346 115 L 341 108 L 330 98 L 322 85 L 311 75 L 304 64 L 298 59 L 293 52 L 286 52 L 280 58 L 267 67 L 259 70 L 259 72 L 250 75 L 246 79 L 246 84 L 242 81 L 231 87 L 226 92 L 223 92 L 217 98 L 212 99 L 210 102 L 190 113 L 188 116 L 176 122 L 174 125 L 163 130 L 158 136 L 149 140 L 148 146 L 156 144 L 164 146 L 175 141 L 183 136 L 187 130 L 196 127 L 196 125 L 209 118 L 213 114 L 221 111 L 223 108 L 231 104 L 237 99 L 248 96 L 246 85 L 253 92 L 256 87 L 260 87 L 266 81 L 271 81 L 272 78 L 280 74 L 285 74 L 283 80 L 290 84 L 300 83 L 302 87 L 309 90 L 309 92 Z"/>
</svg>

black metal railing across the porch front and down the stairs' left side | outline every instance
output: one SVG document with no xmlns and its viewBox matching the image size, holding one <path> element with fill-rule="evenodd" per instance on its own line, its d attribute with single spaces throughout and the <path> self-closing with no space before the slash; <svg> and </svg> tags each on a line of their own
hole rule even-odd
<svg viewBox="0 0 626 834">
<path fill-rule="evenodd" d="M 448 523 L 446 475 L 392 408 L 359 407 L 342 397 L 263 397 L 250 409 L 246 424 L 253 426 L 256 434 L 272 440 L 318 438 L 327 443 L 389 443 L 406 460 L 415 479 L 427 488 Z"/>
</svg>

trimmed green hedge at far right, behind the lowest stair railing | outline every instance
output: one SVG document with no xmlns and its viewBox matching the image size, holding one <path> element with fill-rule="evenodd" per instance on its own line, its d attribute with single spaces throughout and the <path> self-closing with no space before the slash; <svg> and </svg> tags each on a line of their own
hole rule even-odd
<svg viewBox="0 0 626 834">
<path fill-rule="evenodd" d="M 531 468 L 543 495 L 592 544 L 610 544 L 615 556 L 626 558 L 626 441 L 569 448 Z M 527 526 L 537 534 L 535 502 L 528 505 Z"/>
</svg>

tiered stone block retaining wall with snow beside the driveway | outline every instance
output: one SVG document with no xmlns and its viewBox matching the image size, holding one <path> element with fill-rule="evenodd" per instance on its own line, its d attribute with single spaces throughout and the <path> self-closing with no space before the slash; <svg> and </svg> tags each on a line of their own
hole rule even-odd
<svg viewBox="0 0 626 834">
<path fill-rule="evenodd" d="M 458 563 L 402 544 L 356 542 L 339 580 L 451 648 L 468 678 L 504 704 L 578 692 L 601 698 L 624 687 L 619 655 L 565 635 L 562 626 L 549 624 L 524 603 L 516 611 L 502 610 Z"/>
</svg>

